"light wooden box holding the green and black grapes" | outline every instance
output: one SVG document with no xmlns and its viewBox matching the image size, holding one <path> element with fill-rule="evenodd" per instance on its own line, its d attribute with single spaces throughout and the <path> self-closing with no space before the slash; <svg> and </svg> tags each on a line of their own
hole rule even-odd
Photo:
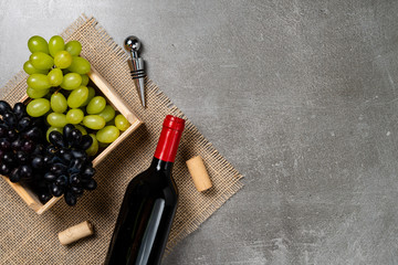
<svg viewBox="0 0 398 265">
<path fill-rule="evenodd" d="M 117 95 L 117 93 L 113 89 L 113 87 L 95 71 L 93 67 L 88 74 L 90 80 L 96 86 L 95 88 L 101 91 L 107 99 L 107 103 L 111 104 L 115 110 L 118 110 L 122 115 L 126 117 L 126 119 L 130 123 L 130 127 L 123 131 L 121 136 L 112 142 L 108 147 L 106 147 L 102 152 L 96 155 L 93 160 L 94 168 L 105 159 L 105 157 L 114 150 L 124 139 L 126 139 L 134 130 L 138 128 L 138 126 L 143 123 L 139 118 L 133 113 L 133 110 L 126 105 L 126 103 Z M 28 95 L 21 98 L 20 102 L 27 102 Z M 53 197 L 45 204 L 42 204 L 39 201 L 36 194 L 34 194 L 29 189 L 25 189 L 20 183 L 12 183 L 9 178 L 1 176 L 14 191 L 21 197 L 21 199 L 28 204 L 29 208 L 33 209 L 38 214 L 42 214 L 51 206 L 53 206 L 62 197 Z"/>
</svg>

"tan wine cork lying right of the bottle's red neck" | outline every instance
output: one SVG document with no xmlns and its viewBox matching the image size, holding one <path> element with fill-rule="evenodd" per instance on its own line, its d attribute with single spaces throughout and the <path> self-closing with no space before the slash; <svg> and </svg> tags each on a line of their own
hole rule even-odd
<svg viewBox="0 0 398 265">
<path fill-rule="evenodd" d="M 198 191 L 206 191 L 212 187 L 210 177 L 200 156 L 189 159 L 187 166 Z"/>
</svg>

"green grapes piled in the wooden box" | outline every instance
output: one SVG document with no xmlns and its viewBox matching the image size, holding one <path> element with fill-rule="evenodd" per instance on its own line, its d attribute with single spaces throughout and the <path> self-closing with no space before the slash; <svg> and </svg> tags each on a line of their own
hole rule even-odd
<svg viewBox="0 0 398 265">
<path fill-rule="evenodd" d="M 88 156 L 95 156 L 119 137 L 130 124 L 96 95 L 88 86 L 90 62 L 80 56 L 82 44 L 54 35 L 46 42 L 34 35 L 28 41 L 32 52 L 23 70 L 29 74 L 27 94 L 32 100 L 27 113 L 32 117 L 45 116 L 49 125 L 46 137 L 52 131 L 62 134 L 67 124 L 75 126 L 82 135 L 90 135 L 92 146 Z"/>
</svg>

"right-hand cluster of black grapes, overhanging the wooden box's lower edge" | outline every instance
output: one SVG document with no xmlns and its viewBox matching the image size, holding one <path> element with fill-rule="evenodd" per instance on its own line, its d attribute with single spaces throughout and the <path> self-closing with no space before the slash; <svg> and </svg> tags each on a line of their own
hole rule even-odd
<svg viewBox="0 0 398 265">
<path fill-rule="evenodd" d="M 71 124 L 63 128 L 63 134 L 52 131 L 49 135 L 51 145 L 45 149 L 44 162 L 48 172 L 44 179 L 54 197 L 64 195 L 69 205 L 75 205 L 84 190 L 97 187 L 93 179 L 95 169 L 86 153 L 93 138 L 82 135 Z"/>
</svg>

